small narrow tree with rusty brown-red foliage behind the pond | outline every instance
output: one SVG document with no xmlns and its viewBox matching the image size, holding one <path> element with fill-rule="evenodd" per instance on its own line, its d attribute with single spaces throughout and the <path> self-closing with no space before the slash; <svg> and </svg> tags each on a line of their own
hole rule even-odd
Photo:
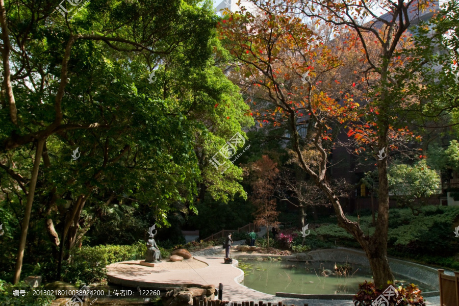
<svg viewBox="0 0 459 306">
<path fill-rule="evenodd" d="M 250 200 L 255 207 L 254 223 L 256 226 L 266 226 L 266 240 L 269 248 L 269 226 L 279 224 L 277 222 L 279 212 L 276 210 L 276 199 L 274 198 L 279 169 L 277 169 L 277 163 L 263 155 L 260 160 L 249 164 L 248 170 L 252 186 Z"/>
</svg>

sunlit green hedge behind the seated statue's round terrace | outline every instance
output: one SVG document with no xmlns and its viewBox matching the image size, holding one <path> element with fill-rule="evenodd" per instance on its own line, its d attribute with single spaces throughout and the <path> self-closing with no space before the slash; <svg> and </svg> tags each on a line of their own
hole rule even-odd
<svg viewBox="0 0 459 306">
<path fill-rule="evenodd" d="M 91 284 L 106 278 L 106 266 L 112 263 L 144 259 L 146 244 L 97 245 L 74 248 L 68 262 L 63 263 L 63 279 L 69 283 Z"/>
</svg>

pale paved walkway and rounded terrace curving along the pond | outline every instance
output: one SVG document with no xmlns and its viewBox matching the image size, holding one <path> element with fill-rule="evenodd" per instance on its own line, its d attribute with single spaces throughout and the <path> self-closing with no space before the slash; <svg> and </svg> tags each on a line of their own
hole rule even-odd
<svg viewBox="0 0 459 306">
<path fill-rule="evenodd" d="M 243 244 L 245 241 L 235 241 L 233 246 Z M 107 266 L 107 276 L 111 283 L 127 287 L 176 287 L 177 284 L 216 285 L 223 284 L 223 299 L 232 301 L 259 301 L 277 303 L 282 301 L 287 305 L 301 306 L 353 306 L 352 300 L 319 300 L 295 299 L 276 297 L 270 294 L 247 288 L 239 282 L 243 279 L 243 271 L 223 263 L 224 249 L 214 246 L 208 249 L 193 251 L 194 260 L 184 260 L 174 265 L 177 269 L 149 268 L 138 265 L 138 261 L 121 262 Z M 237 252 L 241 254 L 241 252 Z M 233 255 L 234 255 L 233 250 Z M 198 263 L 197 261 L 200 261 Z M 208 266 L 205 266 L 205 262 Z M 236 261 L 234 261 L 236 263 Z M 177 265 L 175 265 L 177 264 Z M 179 268 L 180 265 L 180 268 Z M 192 271 L 191 271 L 192 270 Z M 186 271 L 186 272 L 185 272 Z M 429 297 L 424 299 L 427 306 L 440 306 L 440 298 Z"/>
</svg>

